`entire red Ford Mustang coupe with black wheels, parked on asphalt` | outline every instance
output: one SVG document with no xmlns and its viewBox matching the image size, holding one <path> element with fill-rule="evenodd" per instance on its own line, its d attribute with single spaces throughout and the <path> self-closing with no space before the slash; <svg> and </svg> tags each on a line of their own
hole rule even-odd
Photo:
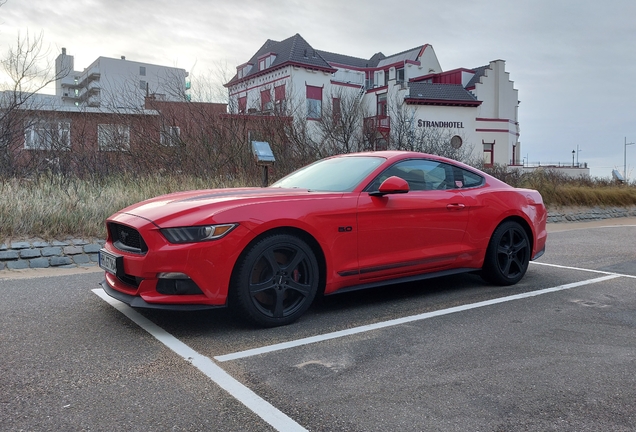
<svg viewBox="0 0 636 432">
<path fill-rule="evenodd" d="M 295 321 L 319 291 L 469 271 L 512 285 L 547 238 L 537 191 L 397 151 L 323 159 L 267 188 L 160 196 L 106 225 L 111 296 L 173 310 L 229 304 L 262 326 Z"/>
</svg>

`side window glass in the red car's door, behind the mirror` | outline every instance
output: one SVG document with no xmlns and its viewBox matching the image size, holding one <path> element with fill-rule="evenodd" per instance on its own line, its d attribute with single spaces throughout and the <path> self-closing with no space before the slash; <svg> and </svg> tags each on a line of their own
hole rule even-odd
<svg viewBox="0 0 636 432">
<path fill-rule="evenodd" d="M 451 165 L 431 160 L 410 159 L 387 168 L 376 177 L 366 190 L 378 190 L 382 182 L 391 176 L 406 180 L 412 191 L 446 190 L 461 187 L 454 182 Z"/>
</svg>

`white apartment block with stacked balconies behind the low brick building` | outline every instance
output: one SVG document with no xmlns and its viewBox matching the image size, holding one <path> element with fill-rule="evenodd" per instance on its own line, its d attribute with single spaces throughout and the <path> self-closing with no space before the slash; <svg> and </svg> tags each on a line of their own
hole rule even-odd
<svg viewBox="0 0 636 432">
<path fill-rule="evenodd" d="M 83 71 L 75 70 L 75 60 L 66 48 L 55 60 L 55 94 L 64 105 L 139 108 L 153 95 L 166 101 L 183 101 L 189 96 L 188 73 L 184 69 L 98 57 Z"/>
</svg>

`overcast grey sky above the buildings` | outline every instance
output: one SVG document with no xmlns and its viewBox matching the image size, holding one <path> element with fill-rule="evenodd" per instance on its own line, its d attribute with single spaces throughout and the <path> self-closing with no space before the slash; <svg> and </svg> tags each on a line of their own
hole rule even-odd
<svg viewBox="0 0 636 432">
<path fill-rule="evenodd" d="M 636 142 L 634 0 L 7 0 L 0 47 L 43 33 L 83 70 L 97 57 L 184 68 L 196 76 L 246 62 L 299 33 L 316 49 L 369 58 L 423 44 L 444 70 L 503 59 L 519 90 L 523 156 L 623 170 Z M 627 147 L 636 177 L 636 145 Z"/>
</svg>

